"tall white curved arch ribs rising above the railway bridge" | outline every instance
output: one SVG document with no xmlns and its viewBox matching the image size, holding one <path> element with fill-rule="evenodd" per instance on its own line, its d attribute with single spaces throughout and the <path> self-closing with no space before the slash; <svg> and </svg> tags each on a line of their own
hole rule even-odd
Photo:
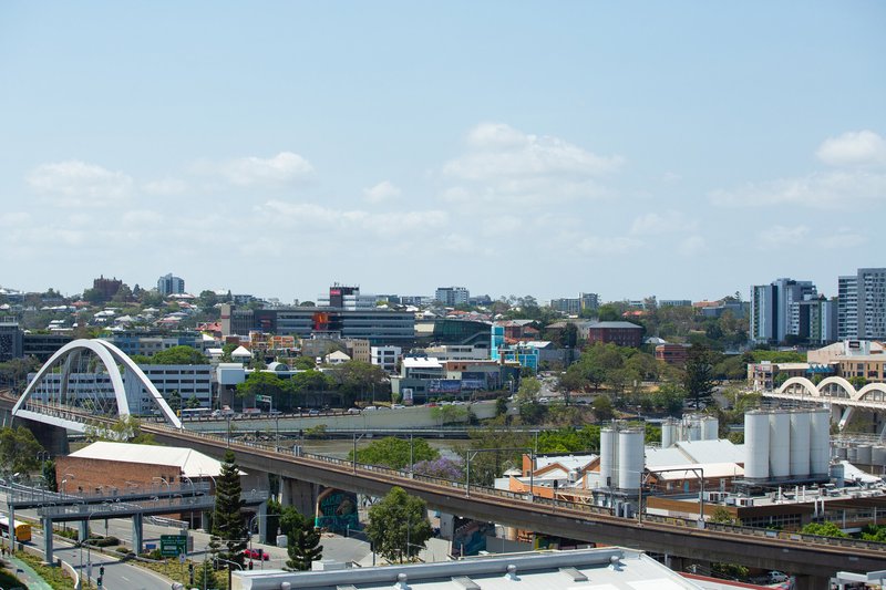
<svg viewBox="0 0 886 590">
<path fill-rule="evenodd" d="M 182 421 L 179 421 L 178 416 L 175 415 L 175 412 L 173 412 L 173 410 L 166 403 L 166 400 L 163 398 L 163 395 L 161 395 L 159 391 L 157 391 L 157 387 L 151 382 L 150 379 L 147 379 L 147 375 L 145 375 L 144 371 L 142 371 L 125 352 L 112 343 L 99 339 L 74 340 L 73 342 L 69 342 L 59 349 L 55 354 L 50 356 L 50 359 L 43 363 L 43 366 L 41 366 L 37 372 L 37 375 L 31 383 L 28 384 L 28 387 L 25 387 L 24 393 L 22 393 L 21 397 L 19 397 L 19 401 L 16 402 L 16 406 L 12 408 L 12 415 L 14 416 L 18 414 L 19 410 L 24 406 L 37 387 L 43 383 L 45 376 L 50 374 L 56 363 L 61 361 L 64 361 L 61 375 L 61 392 L 62 394 L 65 394 L 68 391 L 69 379 L 72 373 L 73 361 L 83 352 L 92 352 L 95 354 L 95 356 L 101 361 L 102 365 L 104 365 L 105 371 L 107 371 L 111 385 L 114 390 L 114 397 L 117 403 L 117 414 L 120 416 L 130 415 L 130 404 L 126 400 L 126 389 L 123 384 L 123 375 L 120 372 L 120 366 L 117 366 L 119 364 L 122 364 L 138 380 L 138 383 L 143 385 L 145 390 L 147 390 L 148 395 L 157 405 L 161 414 L 166 418 L 166 422 L 171 423 L 176 428 L 182 427 Z"/>
</svg>

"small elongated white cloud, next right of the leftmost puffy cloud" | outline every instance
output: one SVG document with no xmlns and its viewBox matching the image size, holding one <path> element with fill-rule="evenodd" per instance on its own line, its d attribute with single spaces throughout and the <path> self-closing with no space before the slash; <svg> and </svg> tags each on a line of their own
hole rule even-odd
<svg viewBox="0 0 886 590">
<path fill-rule="evenodd" d="M 235 186 L 250 187 L 288 185 L 309 176 L 313 166 L 298 154 L 280 152 L 269 158 L 248 156 L 220 163 L 200 161 L 193 169 L 198 174 L 220 175 Z"/>
</svg>

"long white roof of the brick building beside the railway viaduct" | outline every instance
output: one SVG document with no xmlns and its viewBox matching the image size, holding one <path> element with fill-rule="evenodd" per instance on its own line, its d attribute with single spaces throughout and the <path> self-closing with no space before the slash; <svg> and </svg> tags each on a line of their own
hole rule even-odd
<svg viewBox="0 0 886 590">
<path fill-rule="evenodd" d="M 131 443 L 110 443 L 100 441 L 81 448 L 69 456 L 116 460 L 122 463 L 141 463 L 144 465 L 169 465 L 181 469 L 182 475 L 200 477 L 222 474 L 222 463 L 192 448 L 159 445 L 134 445 Z"/>
</svg>

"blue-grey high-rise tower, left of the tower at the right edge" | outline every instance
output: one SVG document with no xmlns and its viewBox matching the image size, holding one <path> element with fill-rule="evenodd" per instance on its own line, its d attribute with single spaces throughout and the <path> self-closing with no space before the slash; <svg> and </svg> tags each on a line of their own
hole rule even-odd
<svg viewBox="0 0 886 590">
<path fill-rule="evenodd" d="M 783 342 L 787 334 L 801 335 L 799 307 L 817 298 L 812 281 L 776 279 L 751 287 L 751 340 Z"/>
</svg>

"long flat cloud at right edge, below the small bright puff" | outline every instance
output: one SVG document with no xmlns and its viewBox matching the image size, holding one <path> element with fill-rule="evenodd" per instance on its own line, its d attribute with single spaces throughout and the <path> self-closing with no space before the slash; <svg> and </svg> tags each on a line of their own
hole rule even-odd
<svg viewBox="0 0 886 590">
<path fill-rule="evenodd" d="M 711 194 L 715 205 L 751 207 L 800 205 L 830 209 L 886 201 L 886 175 L 865 170 L 834 170 L 769 183 L 749 183 L 732 190 Z"/>
</svg>

